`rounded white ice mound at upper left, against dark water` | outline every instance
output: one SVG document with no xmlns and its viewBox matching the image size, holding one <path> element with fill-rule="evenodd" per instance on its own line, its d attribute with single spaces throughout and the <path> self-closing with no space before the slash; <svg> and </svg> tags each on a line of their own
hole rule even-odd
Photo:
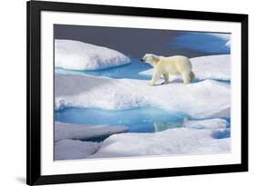
<svg viewBox="0 0 256 186">
<path fill-rule="evenodd" d="M 125 54 L 107 47 L 73 40 L 55 40 L 55 65 L 69 70 L 99 70 L 130 60 Z"/>
</svg>

